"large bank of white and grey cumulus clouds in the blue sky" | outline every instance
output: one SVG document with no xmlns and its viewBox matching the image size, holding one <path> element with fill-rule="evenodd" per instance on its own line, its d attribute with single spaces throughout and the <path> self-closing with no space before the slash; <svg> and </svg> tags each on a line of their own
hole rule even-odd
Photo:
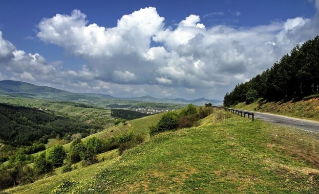
<svg viewBox="0 0 319 194">
<path fill-rule="evenodd" d="M 80 70 L 65 70 L 62 62 L 19 51 L 0 34 L 0 63 L 9 60 L 2 63 L 5 70 L 0 70 L 0 78 L 10 75 L 52 87 L 118 96 L 222 99 L 237 83 L 271 67 L 295 44 L 316 36 L 318 18 L 316 14 L 249 28 L 208 28 L 199 15 L 191 14 L 169 27 L 156 8 L 149 7 L 123 15 L 115 27 L 101 27 L 74 10 L 42 19 L 37 37 L 84 59 Z"/>
</svg>

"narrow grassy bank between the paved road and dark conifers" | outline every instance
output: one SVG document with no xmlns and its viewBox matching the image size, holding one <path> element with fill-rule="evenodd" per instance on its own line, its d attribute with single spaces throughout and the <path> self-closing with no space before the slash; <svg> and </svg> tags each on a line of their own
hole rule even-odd
<svg viewBox="0 0 319 194">
<path fill-rule="evenodd" d="M 267 102 L 260 99 L 250 105 L 240 103 L 234 108 L 319 120 L 319 98 L 296 102 Z"/>
</svg>

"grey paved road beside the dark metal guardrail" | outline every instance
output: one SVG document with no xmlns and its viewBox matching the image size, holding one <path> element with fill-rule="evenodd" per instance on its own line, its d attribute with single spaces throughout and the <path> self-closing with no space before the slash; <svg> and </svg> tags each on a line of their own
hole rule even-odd
<svg viewBox="0 0 319 194">
<path fill-rule="evenodd" d="M 246 111 L 246 110 L 245 110 Z M 246 111 L 254 113 L 254 117 L 266 122 L 277 123 L 289 127 L 295 127 L 298 129 L 319 133 L 319 122 L 312 120 L 306 120 L 301 118 L 293 118 L 289 116 L 275 115 L 269 113 L 260 113 L 253 111 Z"/>
</svg>

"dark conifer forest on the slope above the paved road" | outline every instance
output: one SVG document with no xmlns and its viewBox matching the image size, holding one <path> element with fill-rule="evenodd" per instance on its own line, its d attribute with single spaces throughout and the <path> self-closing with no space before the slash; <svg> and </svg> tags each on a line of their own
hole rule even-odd
<svg viewBox="0 0 319 194">
<path fill-rule="evenodd" d="M 297 44 L 270 69 L 238 84 L 224 96 L 224 106 L 250 104 L 258 98 L 267 101 L 301 100 L 319 92 L 319 35 Z"/>
</svg>

